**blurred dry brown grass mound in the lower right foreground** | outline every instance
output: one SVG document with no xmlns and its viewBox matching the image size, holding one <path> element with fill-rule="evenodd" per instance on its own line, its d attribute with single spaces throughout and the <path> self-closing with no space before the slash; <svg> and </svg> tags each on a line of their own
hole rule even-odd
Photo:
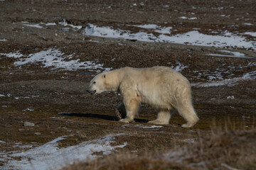
<svg viewBox="0 0 256 170">
<path fill-rule="evenodd" d="M 121 152 L 89 162 L 78 162 L 65 170 L 81 169 L 256 169 L 256 129 L 224 130 L 214 128 L 199 141 L 169 152 L 156 150 Z"/>
</svg>

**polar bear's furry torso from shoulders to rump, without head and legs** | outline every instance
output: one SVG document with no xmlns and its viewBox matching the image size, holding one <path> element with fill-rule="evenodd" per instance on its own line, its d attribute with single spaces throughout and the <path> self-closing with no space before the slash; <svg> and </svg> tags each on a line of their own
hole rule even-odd
<svg viewBox="0 0 256 170">
<path fill-rule="evenodd" d="M 142 103 L 157 108 L 176 106 L 181 96 L 191 98 L 190 84 L 186 77 L 169 67 L 136 69 L 123 68 L 121 91 L 134 90 Z M 188 92 L 186 92 L 188 91 Z M 187 93 L 187 94 L 183 94 Z"/>
</svg>

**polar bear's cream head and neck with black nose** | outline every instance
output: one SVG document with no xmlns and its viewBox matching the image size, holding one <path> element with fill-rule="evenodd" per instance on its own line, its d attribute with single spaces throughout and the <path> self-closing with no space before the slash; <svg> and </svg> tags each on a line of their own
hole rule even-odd
<svg viewBox="0 0 256 170">
<path fill-rule="evenodd" d="M 117 91 L 119 87 L 119 76 L 117 71 L 103 72 L 95 76 L 87 88 L 90 94 L 100 94 L 104 91 Z"/>
</svg>

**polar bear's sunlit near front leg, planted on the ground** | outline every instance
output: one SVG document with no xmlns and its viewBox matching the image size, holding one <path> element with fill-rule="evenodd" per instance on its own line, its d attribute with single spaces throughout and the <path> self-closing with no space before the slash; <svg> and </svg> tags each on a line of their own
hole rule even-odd
<svg viewBox="0 0 256 170">
<path fill-rule="evenodd" d="M 127 117 L 124 119 L 119 120 L 123 123 L 132 123 L 134 122 L 134 116 L 139 111 L 139 101 L 137 98 L 124 98 L 124 106 L 126 108 Z"/>
</svg>

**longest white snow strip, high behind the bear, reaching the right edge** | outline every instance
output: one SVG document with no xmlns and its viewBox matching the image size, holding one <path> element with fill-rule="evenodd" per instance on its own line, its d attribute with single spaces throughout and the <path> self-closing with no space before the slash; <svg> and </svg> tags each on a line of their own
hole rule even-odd
<svg viewBox="0 0 256 170">
<path fill-rule="evenodd" d="M 129 25 L 130 26 L 130 25 Z M 136 26 L 136 25 L 135 25 Z M 136 26 L 141 28 L 153 29 L 154 32 L 160 33 L 160 35 L 154 35 L 152 33 L 146 33 L 140 31 L 139 33 L 131 33 L 129 30 L 114 30 L 110 27 L 98 27 L 93 24 L 88 24 L 85 30 L 82 31 L 85 35 L 92 35 L 105 38 L 124 38 L 133 39 L 146 42 L 171 42 L 178 44 L 188 45 L 203 45 L 214 47 L 245 47 L 256 50 L 256 42 L 247 40 L 242 35 L 235 35 L 225 30 L 221 35 L 206 35 L 199 33 L 198 30 L 192 30 L 188 33 L 181 33 L 176 35 L 166 35 L 168 31 L 166 28 L 161 28 L 154 24 L 148 24 L 145 26 Z M 159 31 L 160 28 L 160 31 Z M 164 29 L 164 33 L 161 30 Z M 168 28 L 171 30 L 171 28 Z"/>
</svg>

